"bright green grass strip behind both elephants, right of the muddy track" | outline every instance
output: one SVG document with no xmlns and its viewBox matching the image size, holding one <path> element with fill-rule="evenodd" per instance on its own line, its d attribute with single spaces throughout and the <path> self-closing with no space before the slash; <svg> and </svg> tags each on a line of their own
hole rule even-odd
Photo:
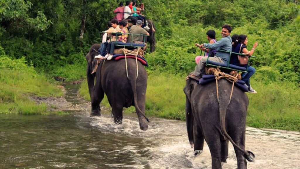
<svg viewBox="0 0 300 169">
<path fill-rule="evenodd" d="M 259 75 L 258 75 L 259 77 Z M 286 81 L 251 81 L 257 94 L 247 94 L 249 108 L 247 126 L 300 131 L 300 89 Z M 185 77 L 150 72 L 146 93 L 146 114 L 156 117 L 185 120 Z M 90 100 L 87 83 L 83 82 L 80 94 Z M 109 106 L 107 99 L 102 102 Z M 134 107 L 125 112 L 134 112 Z"/>
</svg>

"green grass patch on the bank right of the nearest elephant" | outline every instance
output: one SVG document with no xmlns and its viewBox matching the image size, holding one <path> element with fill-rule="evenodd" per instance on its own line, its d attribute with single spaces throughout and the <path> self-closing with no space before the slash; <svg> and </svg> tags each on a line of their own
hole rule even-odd
<svg viewBox="0 0 300 169">
<path fill-rule="evenodd" d="M 300 131 L 300 89 L 290 82 L 252 82 L 247 125 Z"/>
</svg>

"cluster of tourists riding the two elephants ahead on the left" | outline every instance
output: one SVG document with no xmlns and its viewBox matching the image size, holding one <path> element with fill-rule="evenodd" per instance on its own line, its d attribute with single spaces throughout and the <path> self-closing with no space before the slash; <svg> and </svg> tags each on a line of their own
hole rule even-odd
<svg viewBox="0 0 300 169">
<path fill-rule="evenodd" d="M 104 31 L 99 55 L 96 59 L 113 58 L 116 45 L 142 44 L 143 50 L 147 48 L 147 43 L 143 42 L 143 35 L 149 35 L 146 30 L 149 27 L 146 24 L 146 18 L 141 14 L 144 11 L 144 4 L 136 7 L 136 2 L 126 1 L 126 6 L 120 2 L 119 7 L 115 9 L 115 19 L 107 23 L 108 29 Z M 131 23 L 131 24 L 130 24 Z"/>
</svg>

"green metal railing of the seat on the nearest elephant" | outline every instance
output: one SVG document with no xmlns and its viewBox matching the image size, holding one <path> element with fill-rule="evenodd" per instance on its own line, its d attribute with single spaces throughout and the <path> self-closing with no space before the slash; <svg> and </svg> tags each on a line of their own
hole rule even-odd
<svg viewBox="0 0 300 169">
<path fill-rule="evenodd" d="M 223 68 L 223 69 L 229 69 L 229 70 L 235 70 L 235 71 L 238 71 L 238 72 L 248 72 L 248 67 L 249 67 L 249 62 L 250 62 L 250 58 L 253 57 L 253 58 L 256 58 L 255 56 L 247 56 L 245 54 L 242 54 L 242 53 L 235 53 L 235 52 L 232 52 L 232 51 L 224 51 L 224 50 L 220 50 L 220 49 L 214 49 L 216 51 L 221 51 L 221 52 L 226 52 L 226 53 L 229 53 L 229 61 L 227 63 L 227 66 L 224 67 L 224 66 L 220 66 L 220 65 L 214 65 L 214 64 L 210 64 L 208 63 L 208 59 L 209 59 L 209 55 L 211 54 L 211 48 L 208 48 L 208 47 L 205 47 L 205 46 L 202 46 L 202 48 L 205 48 L 205 49 L 209 49 L 209 52 L 208 52 L 208 57 L 207 57 L 207 60 L 206 60 L 206 65 L 207 66 L 213 66 L 213 67 L 219 67 L 219 68 Z M 203 56 L 205 56 L 206 54 L 206 50 L 204 50 L 204 54 Z M 233 69 L 233 68 L 230 68 L 229 67 L 229 63 L 230 63 L 230 58 L 231 58 L 231 54 L 237 54 L 237 55 L 240 55 L 240 56 L 246 56 L 246 57 L 249 57 L 249 60 L 248 60 L 248 63 L 247 63 L 247 69 L 246 70 L 240 70 L 240 69 Z M 202 56 L 202 50 L 201 50 L 201 53 L 200 53 L 200 56 Z M 236 65 L 235 65 L 236 66 Z"/>
</svg>

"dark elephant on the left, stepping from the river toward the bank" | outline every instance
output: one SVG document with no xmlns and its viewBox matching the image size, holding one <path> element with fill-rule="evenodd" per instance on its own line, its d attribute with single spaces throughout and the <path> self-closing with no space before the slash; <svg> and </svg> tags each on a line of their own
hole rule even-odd
<svg viewBox="0 0 300 169">
<path fill-rule="evenodd" d="M 88 62 L 87 80 L 91 97 L 91 116 L 101 115 L 100 102 L 104 98 L 105 93 L 112 107 L 112 117 L 115 124 L 122 123 L 123 107 L 135 106 L 140 122 L 140 129 L 146 131 L 149 119 L 144 114 L 146 111 L 147 88 L 147 72 L 145 67 L 140 62 L 136 63 L 135 59 L 128 58 L 127 77 L 125 59 L 118 61 L 101 60 L 97 71 L 91 74 L 93 69 L 92 60 L 97 55 L 99 48 L 99 44 L 92 45 L 85 56 Z"/>
</svg>

